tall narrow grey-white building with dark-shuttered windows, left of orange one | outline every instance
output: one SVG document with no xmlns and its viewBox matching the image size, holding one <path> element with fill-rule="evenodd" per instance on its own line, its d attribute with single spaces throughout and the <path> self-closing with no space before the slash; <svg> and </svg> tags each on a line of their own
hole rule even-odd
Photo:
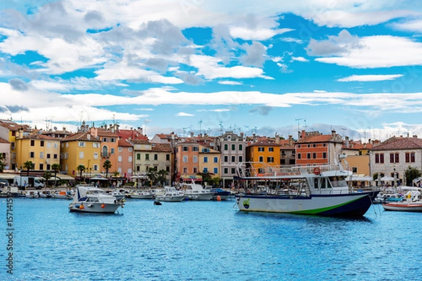
<svg viewBox="0 0 422 281">
<path fill-rule="evenodd" d="M 222 185 L 229 188 L 236 176 L 236 166 L 241 163 L 241 169 L 245 169 L 246 161 L 246 138 L 241 133 L 238 136 L 233 131 L 226 131 L 217 138 L 217 147 L 221 152 L 220 156 L 220 177 Z"/>
</svg>

